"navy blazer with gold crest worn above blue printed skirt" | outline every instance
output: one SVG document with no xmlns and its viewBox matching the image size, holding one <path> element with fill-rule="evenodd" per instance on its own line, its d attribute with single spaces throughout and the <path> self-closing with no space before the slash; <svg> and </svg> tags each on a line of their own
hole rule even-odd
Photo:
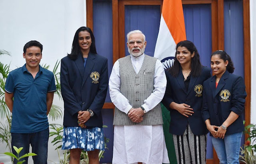
<svg viewBox="0 0 256 164">
<path fill-rule="evenodd" d="M 88 127 L 102 126 L 102 107 L 108 90 L 108 59 L 89 53 L 86 66 L 82 55 L 76 60 L 64 57 L 60 67 L 61 94 L 64 100 L 64 126 L 78 126 L 78 111 L 91 109 L 94 116 Z"/>
</svg>

